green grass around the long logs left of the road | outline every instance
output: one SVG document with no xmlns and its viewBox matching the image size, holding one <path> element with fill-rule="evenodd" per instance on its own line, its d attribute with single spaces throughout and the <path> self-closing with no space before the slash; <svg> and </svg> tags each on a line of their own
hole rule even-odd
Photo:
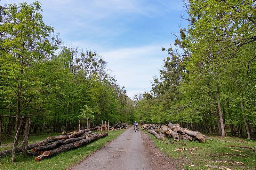
<svg viewBox="0 0 256 170">
<path fill-rule="evenodd" d="M 51 158 L 43 159 L 42 161 L 35 162 L 35 157 L 27 157 L 26 159 L 22 158 L 22 155 L 17 155 L 16 163 L 13 165 L 11 164 L 12 158 L 11 156 L 5 156 L 0 158 L 0 169 L 4 170 L 27 170 L 27 169 L 47 169 L 47 170 L 57 170 L 57 169 L 66 169 L 69 166 L 75 164 L 76 162 L 84 159 L 86 156 L 90 155 L 92 152 L 96 151 L 97 149 L 102 148 L 108 142 L 115 139 L 118 135 L 123 133 L 124 130 L 119 131 L 109 131 L 108 136 L 104 138 L 100 138 L 88 145 L 79 147 L 75 150 L 67 151 L 60 153 L 56 156 Z M 34 135 L 29 137 L 29 143 L 34 143 L 37 141 L 44 140 L 48 136 L 56 136 L 59 133 L 48 133 L 48 134 L 41 134 L 41 135 Z M 10 139 L 9 142 L 12 142 Z M 5 141 L 5 143 L 7 143 Z M 2 146 L 1 146 L 2 147 Z"/>
</svg>

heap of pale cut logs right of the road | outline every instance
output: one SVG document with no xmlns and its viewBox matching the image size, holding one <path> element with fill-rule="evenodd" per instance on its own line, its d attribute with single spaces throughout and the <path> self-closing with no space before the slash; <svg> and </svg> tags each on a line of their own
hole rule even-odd
<svg viewBox="0 0 256 170">
<path fill-rule="evenodd" d="M 180 124 L 172 124 L 170 122 L 168 125 L 143 124 L 142 127 L 143 130 L 152 133 L 159 140 L 164 140 L 165 137 L 171 137 L 176 141 L 181 139 L 198 140 L 202 143 L 205 142 L 206 139 L 212 140 L 198 131 L 190 131 L 187 128 L 180 127 Z"/>
</svg>

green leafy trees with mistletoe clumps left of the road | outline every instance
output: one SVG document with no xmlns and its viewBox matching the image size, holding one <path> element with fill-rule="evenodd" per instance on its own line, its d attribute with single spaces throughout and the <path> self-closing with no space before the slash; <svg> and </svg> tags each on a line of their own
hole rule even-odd
<svg viewBox="0 0 256 170">
<path fill-rule="evenodd" d="M 41 3 L 1 4 L 0 115 L 29 116 L 30 132 L 78 129 L 78 118 L 134 121 L 132 100 L 102 54 L 72 44 L 43 22 Z M 11 135 L 15 117 L 1 117 Z"/>
</svg>

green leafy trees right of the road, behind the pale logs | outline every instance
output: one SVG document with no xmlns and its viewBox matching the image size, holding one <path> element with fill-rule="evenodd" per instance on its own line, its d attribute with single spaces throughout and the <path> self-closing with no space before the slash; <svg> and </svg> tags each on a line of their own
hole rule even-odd
<svg viewBox="0 0 256 170">
<path fill-rule="evenodd" d="M 162 47 L 167 57 L 152 89 L 134 95 L 136 115 L 142 123 L 255 138 L 256 1 L 182 2 L 188 27 Z"/>
</svg>

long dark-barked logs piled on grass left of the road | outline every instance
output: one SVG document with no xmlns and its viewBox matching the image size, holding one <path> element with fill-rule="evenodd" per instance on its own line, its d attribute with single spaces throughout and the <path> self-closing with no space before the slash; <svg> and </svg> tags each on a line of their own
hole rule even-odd
<svg viewBox="0 0 256 170">
<path fill-rule="evenodd" d="M 27 152 L 27 155 L 36 156 L 35 161 L 40 161 L 46 157 L 48 158 L 61 152 L 76 149 L 94 140 L 108 136 L 108 132 L 98 134 L 97 132 L 92 133 L 93 130 L 93 128 L 90 128 L 69 133 L 63 131 L 62 135 L 48 137 L 45 140 L 28 145 L 27 151 L 31 149 L 32 151 Z M 19 152 L 22 152 L 22 148 L 17 149 L 17 153 Z M 2 151 L 0 152 L 0 158 L 11 153 L 12 149 Z"/>
</svg>

